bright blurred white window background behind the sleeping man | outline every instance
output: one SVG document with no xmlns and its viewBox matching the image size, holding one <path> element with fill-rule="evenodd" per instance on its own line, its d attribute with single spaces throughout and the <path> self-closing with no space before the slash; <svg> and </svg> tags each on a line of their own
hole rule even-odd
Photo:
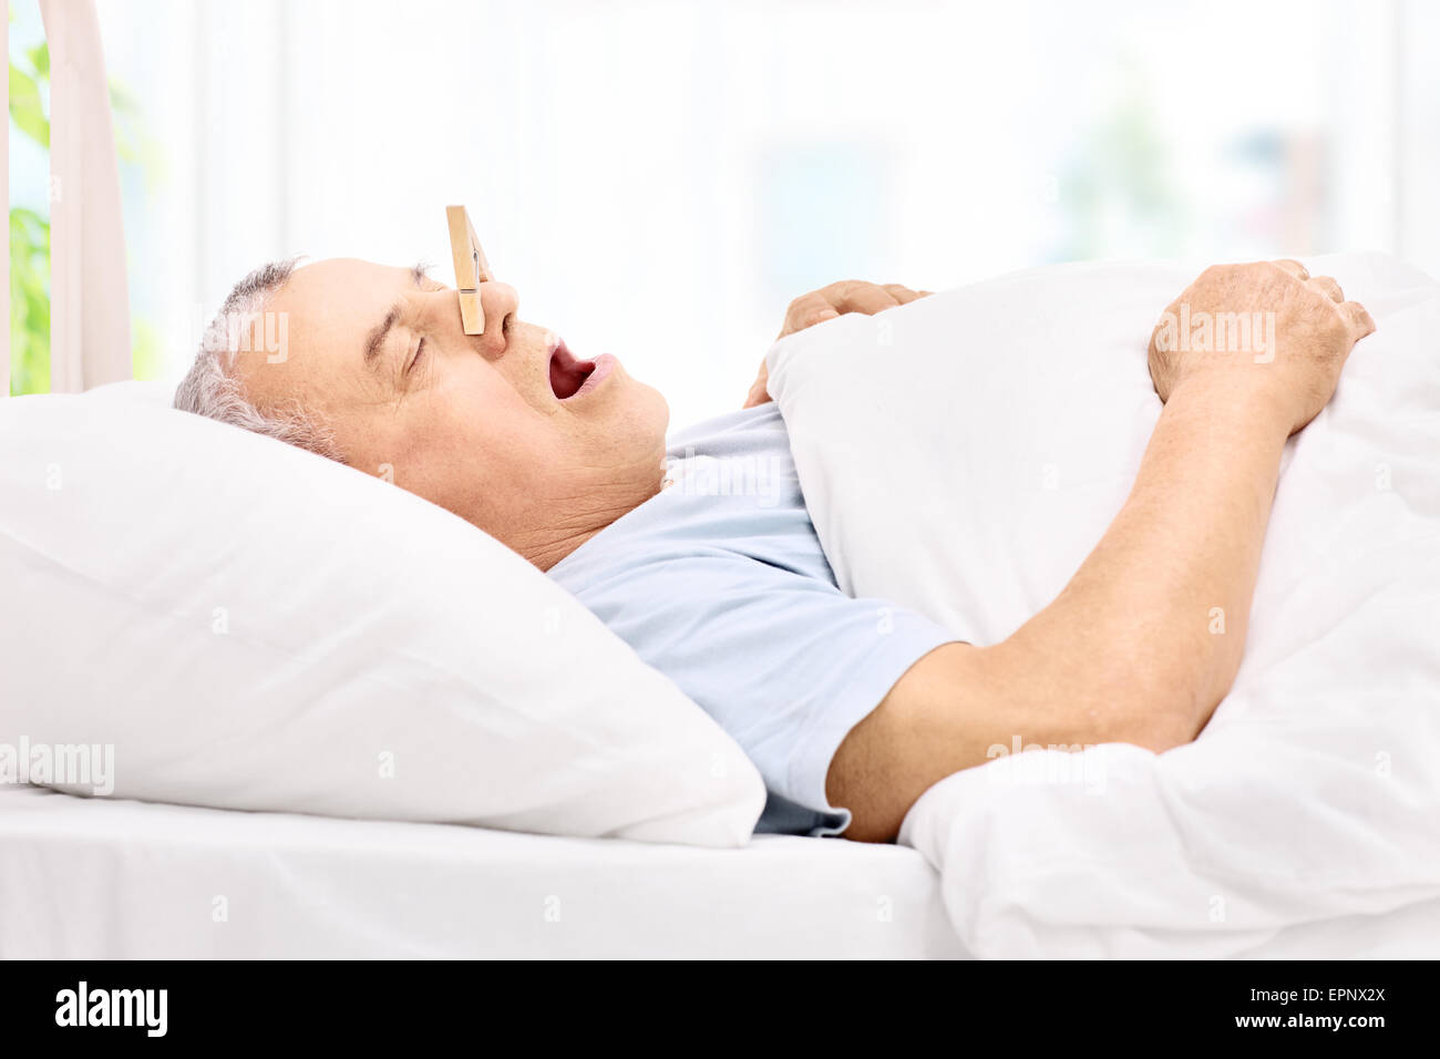
<svg viewBox="0 0 1440 1059">
<path fill-rule="evenodd" d="M 48 385 L 48 63 L 12 0 L 13 389 Z M 795 295 L 1087 258 L 1380 249 L 1440 274 L 1426 0 L 101 0 L 140 377 L 292 254 L 431 262 L 672 425 Z M 1159 310 L 1159 307 L 1156 307 Z"/>
</svg>

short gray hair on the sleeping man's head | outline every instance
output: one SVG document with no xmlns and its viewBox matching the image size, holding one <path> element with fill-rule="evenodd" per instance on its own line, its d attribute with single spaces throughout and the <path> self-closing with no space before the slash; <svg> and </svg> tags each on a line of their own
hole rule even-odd
<svg viewBox="0 0 1440 1059">
<path fill-rule="evenodd" d="M 194 363 L 176 389 L 174 406 L 207 419 L 239 426 L 253 434 L 308 450 L 327 460 L 346 463 L 334 431 L 300 401 L 261 409 L 235 376 L 235 359 L 249 340 L 248 326 L 269 304 L 291 272 L 295 258 L 272 261 L 246 275 L 226 297 L 204 330 Z"/>
</svg>

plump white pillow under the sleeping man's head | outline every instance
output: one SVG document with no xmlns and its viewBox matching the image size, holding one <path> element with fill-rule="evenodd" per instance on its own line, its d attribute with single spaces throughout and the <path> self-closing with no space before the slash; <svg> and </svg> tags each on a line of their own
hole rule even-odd
<svg viewBox="0 0 1440 1059">
<path fill-rule="evenodd" d="M 167 405 L 140 383 L 0 402 L 0 778 L 22 741 L 111 745 L 120 797 L 747 840 L 755 767 L 541 572 Z M 73 778 L 49 785 L 104 792 Z"/>
</svg>

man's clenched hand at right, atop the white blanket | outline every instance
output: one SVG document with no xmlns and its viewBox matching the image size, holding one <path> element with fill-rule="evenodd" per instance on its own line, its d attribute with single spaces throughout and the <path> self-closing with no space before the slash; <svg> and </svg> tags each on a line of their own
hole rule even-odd
<svg viewBox="0 0 1440 1059">
<path fill-rule="evenodd" d="M 1374 330 L 1364 305 L 1299 261 L 1212 265 L 1151 334 L 1151 379 L 1161 401 L 1197 386 L 1257 398 L 1293 434 L 1325 408 L 1349 352 Z"/>
</svg>

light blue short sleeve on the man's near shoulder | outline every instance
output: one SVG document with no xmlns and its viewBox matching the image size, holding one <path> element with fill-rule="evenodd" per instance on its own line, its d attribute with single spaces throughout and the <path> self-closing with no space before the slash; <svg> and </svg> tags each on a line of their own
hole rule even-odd
<svg viewBox="0 0 1440 1059">
<path fill-rule="evenodd" d="M 612 565 L 580 602 L 744 749 L 785 814 L 760 830 L 850 824 L 825 798 L 845 735 L 924 654 L 956 637 L 910 609 L 724 550 Z M 573 589 L 572 589 L 573 591 Z M 765 818 L 762 817 L 762 821 Z"/>
</svg>

